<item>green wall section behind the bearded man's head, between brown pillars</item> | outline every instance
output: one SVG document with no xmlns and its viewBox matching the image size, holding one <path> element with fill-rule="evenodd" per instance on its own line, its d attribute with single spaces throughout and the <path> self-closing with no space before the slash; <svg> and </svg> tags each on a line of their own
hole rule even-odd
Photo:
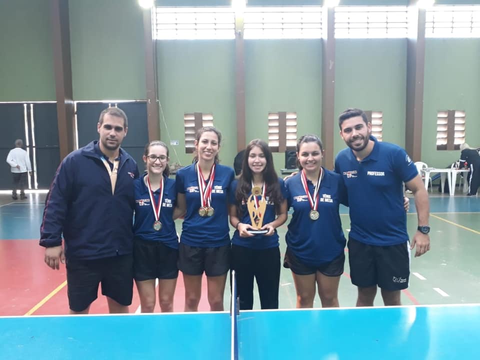
<svg viewBox="0 0 480 360">
<path fill-rule="evenodd" d="M 337 39 L 335 154 L 345 147 L 336 121 L 347 107 L 383 112 L 383 141 L 405 145 L 406 39 Z"/>
</svg>

